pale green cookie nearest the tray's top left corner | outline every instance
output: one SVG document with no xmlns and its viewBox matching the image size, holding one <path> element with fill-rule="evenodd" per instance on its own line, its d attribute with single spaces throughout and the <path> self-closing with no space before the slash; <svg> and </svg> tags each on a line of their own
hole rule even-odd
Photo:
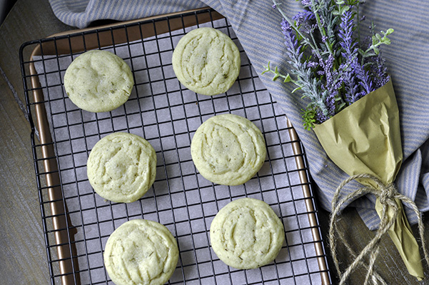
<svg viewBox="0 0 429 285">
<path fill-rule="evenodd" d="M 128 100 L 133 85 L 130 67 L 109 51 L 86 51 L 64 74 L 64 88 L 71 101 L 91 112 L 118 108 Z"/>
</svg>

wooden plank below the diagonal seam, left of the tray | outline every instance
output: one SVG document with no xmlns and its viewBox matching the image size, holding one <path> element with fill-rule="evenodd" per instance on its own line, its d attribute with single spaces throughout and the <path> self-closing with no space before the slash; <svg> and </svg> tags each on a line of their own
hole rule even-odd
<svg viewBox="0 0 429 285">
<path fill-rule="evenodd" d="M 0 283 L 46 284 L 49 272 L 30 127 L 4 78 L 0 88 Z"/>
</svg>

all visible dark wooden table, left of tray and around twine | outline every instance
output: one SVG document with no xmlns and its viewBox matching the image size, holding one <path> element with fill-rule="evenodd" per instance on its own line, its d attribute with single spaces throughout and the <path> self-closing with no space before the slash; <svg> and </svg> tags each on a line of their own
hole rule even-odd
<svg viewBox="0 0 429 285">
<path fill-rule="evenodd" d="M 30 126 L 19 67 L 19 46 L 25 41 L 74 29 L 56 19 L 48 1 L 19 0 L 0 27 L 0 276 L 1 284 L 48 284 L 49 271 L 41 225 L 39 198 L 31 155 Z M 319 210 L 323 238 L 328 233 L 329 213 Z M 355 249 L 363 249 L 373 232 L 354 209 L 346 209 L 340 229 Z M 425 221 L 425 239 L 429 222 Z M 413 226 L 417 235 L 417 228 Z M 328 250 L 328 247 L 326 248 Z M 350 264 L 350 256 L 340 249 L 340 260 Z M 333 284 L 338 283 L 328 255 Z M 428 266 L 425 266 L 428 278 Z M 383 239 L 376 269 L 388 284 L 419 283 L 408 275 L 390 239 Z M 353 274 L 350 284 L 363 284 L 365 272 Z"/>
</svg>

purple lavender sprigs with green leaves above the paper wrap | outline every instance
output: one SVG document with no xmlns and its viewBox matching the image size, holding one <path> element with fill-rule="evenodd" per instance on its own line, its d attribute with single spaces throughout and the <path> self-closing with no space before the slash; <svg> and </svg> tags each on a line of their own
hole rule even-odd
<svg viewBox="0 0 429 285">
<path fill-rule="evenodd" d="M 281 77 L 297 86 L 293 92 L 299 90 L 308 99 L 302 114 L 304 126 L 311 129 L 390 80 L 380 46 L 390 44 L 393 29 L 373 33 L 363 48 L 359 24 L 365 16 L 359 15 L 360 0 L 301 0 L 301 4 L 304 9 L 289 19 L 281 3 L 273 0 L 273 8 L 283 16 L 281 29 L 292 68 L 283 75 L 268 63 L 263 74 L 271 72 L 273 80 Z"/>
</svg>

